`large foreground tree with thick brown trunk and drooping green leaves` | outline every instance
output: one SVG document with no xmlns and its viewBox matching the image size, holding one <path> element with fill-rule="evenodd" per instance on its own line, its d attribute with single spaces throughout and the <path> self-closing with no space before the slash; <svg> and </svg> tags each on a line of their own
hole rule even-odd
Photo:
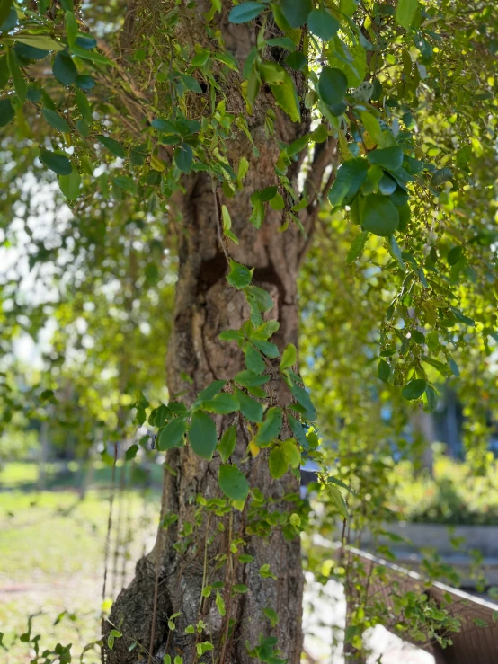
<svg viewBox="0 0 498 664">
<path fill-rule="evenodd" d="M 166 455 L 155 551 L 104 623 L 106 660 L 134 662 L 139 651 L 149 662 L 296 662 L 309 509 L 298 465 L 321 458 L 297 367 L 298 270 L 315 234 L 325 249 L 348 238 L 346 263 L 358 269 L 324 247 L 317 260 L 367 288 L 369 315 L 384 318 L 373 340 L 378 376 L 429 412 L 432 371 L 456 373 L 449 349 L 471 343 L 474 298 L 484 303 L 479 332 L 495 334 L 496 233 L 489 217 L 469 224 L 462 212 L 485 173 L 473 161 L 495 165 L 494 9 L 415 0 L 0 7 L 6 204 L 30 207 L 28 173 L 44 187 L 57 176 L 72 217 L 55 251 L 42 242 L 32 264 L 66 253 L 60 287 L 67 274 L 79 279 L 77 257 L 86 287 L 99 287 L 99 311 L 118 278 L 128 336 L 110 351 L 115 389 L 140 391 L 135 424 L 156 427 Z M 135 291 L 154 284 L 165 246 L 178 281 L 170 401 L 160 403 L 134 371 L 147 373 L 147 355 L 122 350 L 139 320 Z M 156 330 L 154 302 L 145 311 Z M 31 313 L 40 326 L 46 314 Z M 342 314 L 357 324 L 357 313 Z M 103 315 L 97 336 L 114 349 Z M 122 435 L 129 422 L 119 412 Z M 324 491 L 345 516 L 327 475 Z"/>
</svg>

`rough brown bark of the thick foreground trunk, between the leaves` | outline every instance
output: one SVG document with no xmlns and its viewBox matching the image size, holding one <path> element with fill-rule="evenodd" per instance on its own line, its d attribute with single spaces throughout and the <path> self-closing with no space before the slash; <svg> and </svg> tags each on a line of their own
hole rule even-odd
<svg viewBox="0 0 498 664">
<path fill-rule="evenodd" d="M 206 10 L 198 3 L 200 13 Z M 228 5 L 228 4 L 227 4 Z M 229 4 L 231 6 L 231 4 Z M 200 25 L 183 26 L 184 40 L 201 41 Z M 135 26 L 136 27 L 136 26 Z M 246 25 L 227 23 L 227 8 L 220 19 L 220 29 L 236 58 L 243 61 L 255 43 L 256 34 Z M 299 93 L 302 90 L 298 90 Z M 239 93 L 227 90 L 227 97 L 234 106 L 245 112 Z M 266 288 L 275 303 L 269 317 L 280 322 L 280 331 L 272 341 L 280 350 L 298 341 L 297 274 L 298 263 L 306 246 L 306 239 L 298 226 L 291 224 L 285 232 L 280 231 L 285 212 L 268 209 L 260 230 L 249 223 L 250 197 L 254 190 L 277 184 L 274 163 L 280 153 L 281 142 L 291 143 L 305 134 L 309 128 L 304 108 L 302 123 L 292 123 L 287 116 L 275 108 L 270 91 L 260 94 L 260 106 L 248 118 L 251 134 L 259 149 L 259 157 L 253 155 L 253 146 L 241 132 L 231 142 L 229 159 L 234 167 L 244 155 L 250 169 L 244 181 L 244 189 L 233 199 L 225 199 L 221 187 L 215 185 L 206 173 L 198 173 L 185 181 L 186 191 L 172 202 L 172 217 L 175 217 L 178 234 L 179 278 L 176 292 L 173 338 L 170 342 L 167 372 L 170 394 L 181 394 L 179 399 L 190 404 L 195 395 L 218 378 L 230 378 L 245 368 L 241 351 L 233 342 L 219 341 L 218 334 L 229 328 L 239 328 L 247 320 L 249 310 L 245 298 L 231 288 L 225 279 L 227 257 L 219 229 L 221 204 L 226 204 L 232 218 L 232 230 L 239 238 L 236 245 L 228 241 L 225 250 L 236 261 L 254 268 L 253 283 Z M 264 112 L 273 108 L 277 114 L 275 135 L 270 139 L 264 133 Z M 301 164 L 297 161 L 289 168 L 288 177 L 298 190 L 298 173 Z M 316 166 L 321 179 L 325 166 Z M 282 191 L 284 198 L 287 197 Z M 286 208 L 289 208 L 289 200 Z M 303 214 L 307 214 L 306 211 Z M 306 220 L 305 220 L 306 224 Z M 273 405 L 289 403 L 290 394 L 278 380 L 278 372 L 271 381 L 270 391 Z M 259 511 L 248 500 L 244 511 L 232 511 L 232 516 L 209 516 L 196 504 L 196 496 L 205 499 L 223 498 L 218 487 L 217 455 L 205 462 L 191 452 L 190 447 L 168 452 L 167 463 L 173 474 L 166 474 L 165 513 L 178 515 L 173 526 L 158 536 L 155 550 L 137 564 L 136 577 L 127 589 L 121 591 L 111 612 L 111 623 L 117 625 L 123 638 L 117 639 L 112 651 L 106 652 L 109 664 L 134 664 L 147 660 L 149 649 L 155 586 L 156 556 L 159 560 L 159 588 L 155 639 L 152 648 L 153 661 L 162 662 L 165 654 L 174 659 L 181 655 L 184 662 L 254 661 L 248 655 L 248 646 L 253 648 L 260 635 L 276 636 L 280 657 L 290 664 L 298 664 L 302 648 L 301 601 L 303 578 L 298 538 L 287 540 L 278 525 L 268 528 L 268 534 L 260 536 L 256 522 L 278 521 L 278 514 L 293 510 L 292 500 L 285 496 L 298 496 L 298 482 L 286 474 L 279 481 L 271 478 L 268 471 L 267 450 L 253 458 L 247 455 L 249 434 L 246 425 L 234 415 L 218 416 L 218 433 L 236 419 L 237 444 L 235 459 L 245 472 L 250 486 L 262 491 L 265 497 Z M 285 430 L 282 432 L 286 434 Z M 287 432 L 289 435 L 289 432 Z M 240 540 L 238 553 L 230 552 L 229 542 Z M 237 555 L 248 553 L 253 562 L 243 564 Z M 227 562 L 218 565 L 220 556 Z M 218 556 L 218 558 L 217 558 Z M 259 571 L 269 564 L 276 577 L 262 578 Z M 203 579 L 209 583 L 223 581 L 225 589 L 220 592 L 225 600 L 227 615 L 222 617 L 215 604 L 215 595 L 200 606 Z M 245 584 L 245 594 L 230 594 L 227 588 L 234 584 Z M 263 615 L 263 609 L 271 608 L 279 616 L 274 627 Z M 168 629 L 167 617 L 180 613 L 176 618 L 176 629 Z M 184 633 L 185 627 L 205 624 L 203 635 Z M 109 627 L 110 629 L 110 627 Z M 214 652 L 197 657 L 196 642 L 209 639 Z M 143 646 L 128 652 L 133 641 Z"/>
</svg>

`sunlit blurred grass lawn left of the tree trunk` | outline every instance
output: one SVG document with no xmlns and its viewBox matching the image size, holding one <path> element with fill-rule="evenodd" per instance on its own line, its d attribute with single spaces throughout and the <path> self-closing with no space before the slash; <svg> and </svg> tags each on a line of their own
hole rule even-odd
<svg viewBox="0 0 498 664">
<path fill-rule="evenodd" d="M 25 486 L 36 479 L 18 471 L 11 469 L 11 481 Z M 84 645 L 99 638 L 109 496 L 102 489 L 88 491 L 84 500 L 71 489 L 0 492 L 0 631 L 7 648 L 0 646 L 0 660 L 5 664 L 31 661 L 32 642 L 19 639 L 30 615 L 31 638 L 41 634 L 40 651 L 72 642 L 73 660 L 79 661 Z M 115 527 L 108 598 L 129 582 L 138 556 L 153 544 L 158 502 L 156 492 L 116 495 L 120 546 L 115 556 Z M 82 661 L 97 664 L 100 655 L 88 651 Z"/>
</svg>

